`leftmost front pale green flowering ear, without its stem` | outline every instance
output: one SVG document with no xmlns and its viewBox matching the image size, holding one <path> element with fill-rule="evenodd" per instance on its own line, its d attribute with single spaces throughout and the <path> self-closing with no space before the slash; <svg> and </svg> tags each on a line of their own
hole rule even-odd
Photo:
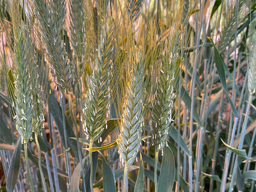
<svg viewBox="0 0 256 192">
<path fill-rule="evenodd" d="M 16 10 L 16 9 L 15 9 Z M 16 10 L 17 11 L 17 10 Z M 13 49 L 13 77 L 15 96 L 13 106 L 16 115 L 14 120 L 16 128 L 22 137 L 22 142 L 27 143 L 32 136 L 32 108 L 30 97 L 30 73 L 29 62 L 27 59 L 27 49 L 30 47 L 29 40 L 25 39 L 28 36 L 26 26 L 23 21 L 14 23 L 14 49 Z M 26 47 L 26 48 L 25 48 Z"/>
</svg>

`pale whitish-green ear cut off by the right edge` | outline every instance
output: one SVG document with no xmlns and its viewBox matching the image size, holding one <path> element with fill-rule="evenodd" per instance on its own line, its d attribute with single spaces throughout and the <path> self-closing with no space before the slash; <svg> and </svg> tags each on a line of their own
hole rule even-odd
<svg viewBox="0 0 256 192">
<path fill-rule="evenodd" d="M 254 94 L 256 90 L 256 43 L 254 43 L 250 61 L 247 68 L 248 73 L 248 90 L 250 94 Z"/>
</svg>

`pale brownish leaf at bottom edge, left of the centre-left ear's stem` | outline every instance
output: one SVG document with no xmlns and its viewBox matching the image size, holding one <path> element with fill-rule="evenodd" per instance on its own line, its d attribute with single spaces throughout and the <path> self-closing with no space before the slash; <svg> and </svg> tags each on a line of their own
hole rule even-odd
<svg viewBox="0 0 256 192">
<path fill-rule="evenodd" d="M 82 163 L 84 165 L 84 161 L 88 158 L 87 155 L 85 158 L 82 159 Z M 71 182 L 70 182 L 70 192 L 78 192 L 79 190 L 79 183 L 81 178 L 81 163 L 78 163 L 74 172 L 72 174 Z"/>
</svg>

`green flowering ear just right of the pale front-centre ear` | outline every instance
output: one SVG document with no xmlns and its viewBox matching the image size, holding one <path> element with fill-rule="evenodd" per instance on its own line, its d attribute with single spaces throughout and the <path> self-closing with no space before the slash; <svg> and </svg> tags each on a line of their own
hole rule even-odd
<svg viewBox="0 0 256 192">
<path fill-rule="evenodd" d="M 156 88 L 151 98 L 150 128 L 156 151 L 160 151 L 168 140 L 170 125 L 173 123 L 174 83 L 179 64 L 178 39 L 180 35 L 169 38 L 165 52 L 156 72 Z"/>
</svg>

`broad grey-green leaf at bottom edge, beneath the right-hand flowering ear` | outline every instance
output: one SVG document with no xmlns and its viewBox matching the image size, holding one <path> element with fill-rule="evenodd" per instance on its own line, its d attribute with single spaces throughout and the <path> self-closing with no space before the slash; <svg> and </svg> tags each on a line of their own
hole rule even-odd
<svg viewBox="0 0 256 192">
<path fill-rule="evenodd" d="M 175 179 L 175 161 L 172 151 L 164 148 L 164 157 L 161 165 L 158 192 L 172 191 L 172 186 Z"/>
</svg>

